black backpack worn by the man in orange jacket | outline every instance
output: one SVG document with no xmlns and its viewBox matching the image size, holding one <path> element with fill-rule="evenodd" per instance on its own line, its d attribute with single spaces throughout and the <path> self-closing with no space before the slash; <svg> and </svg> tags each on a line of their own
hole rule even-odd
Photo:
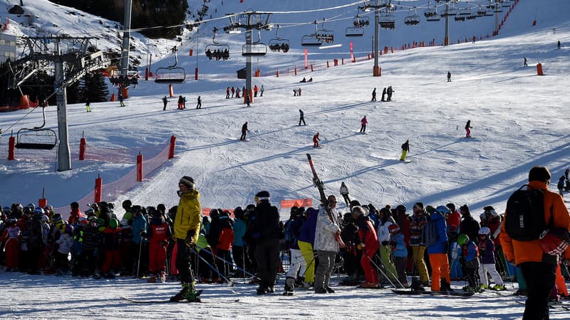
<svg viewBox="0 0 570 320">
<path fill-rule="evenodd" d="M 544 191 L 525 186 L 509 197 L 504 229 L 512 240 L 537 240 L 546 229 L 544 223 Z"/>
</svg>

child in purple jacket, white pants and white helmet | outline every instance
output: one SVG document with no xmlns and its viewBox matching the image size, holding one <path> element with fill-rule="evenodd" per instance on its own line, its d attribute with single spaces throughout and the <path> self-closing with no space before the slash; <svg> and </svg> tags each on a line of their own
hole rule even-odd
<svg viewBox="0 0 570 320">
<path fill-rule="evenodd" d="M 489 288 L 489 277 L 487 273 L 491 275 L 494 287 L 493 290 L 504 290 L 503 279 L 501 278 L 499 272 L 497 272 L 497 267 L 494 265 L 494 243 L 493 240 L 489 238 L 491 230 L 487 227 L 479 229 L 479 255 L 481 264 L 479 265 L 479 278 L 481 282 L 481 288 Z"/>
</svg>

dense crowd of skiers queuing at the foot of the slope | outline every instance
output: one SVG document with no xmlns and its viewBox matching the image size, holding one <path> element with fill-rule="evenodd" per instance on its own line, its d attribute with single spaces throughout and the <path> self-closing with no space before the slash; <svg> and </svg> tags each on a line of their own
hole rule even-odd
<svg viewBox="0 0 570 320">
<path fill-rule="evenodd" d="M 0 252 L 6 272 L 120 275 L 149 282 L 177 277 L 183 286 L 180 296 L 173 297 L 178 300 L 197 299 L 192 296 L 194 280 L 249 277 L 259 283 L 258 294 L 274 292 L 277 272 L 286 266 L 284 289 L 290 293 L 299 287 L 333 293 L 329 286 L 333 270 L 346 273 L 344 285 L 432 291 L 451 291 L 452 278 L 465 279 L 465 291 L 504 290 L 503 279 L 514 276 L 519 281 L 517 293 L 527 293 L 527 275 L 514 267 L 514 260 L 519 262 L 514 257 L 516 247 L 504 250 L 505 243 L 514 241 L 506 240 L 504 217 L 492 206 L 483 208 L 478 221 L 467 204 L 457 208 L 454 203 L 417 202 L 409 214 L 402 204 L 377 209 L 372 203 L 351 201 L 342 183 L 346 206 L 340 210 L 336 196 L 330 195 L 326 205 L 293 207 L 289 219 L 279 222 L 266 191 L 257 194 L 255 204 L 234 208 L 233 216 L 222 209 L 201 216 L 192 178 L 182 178 L 179 186 L 180 204 L 170 209 L 126 200 L 121 210 L 100 202 L 81 212 L 73 202 L 69 219 L 63 221 L 51 206 L 4 207 Z M 177 225 L 177 215 L 189 214 L 193 218 L 179 216 L 182 222 Z M 185 222 L 192 219 L 196 221 Z M 570 250 L 561 258 L 556 266 L 556 298 L 568 297 L 561 271 L 567 270 Z"/>
</svg>

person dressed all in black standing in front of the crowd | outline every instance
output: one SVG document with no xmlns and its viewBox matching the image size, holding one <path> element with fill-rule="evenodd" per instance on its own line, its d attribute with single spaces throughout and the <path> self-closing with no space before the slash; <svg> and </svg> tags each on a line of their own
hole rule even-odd
<svg viewBox="0 0 570 320">
<path fill-rule="evenodd" d="M 255 195 L 252 221 L 252 238 L 255 239 L 255 257 L 259 287 L 257 294 L 274 292 L 275 278 L 279 270 L 279 210 L 269 203 L 269 192 L 259 191 Z"/>
</svg>

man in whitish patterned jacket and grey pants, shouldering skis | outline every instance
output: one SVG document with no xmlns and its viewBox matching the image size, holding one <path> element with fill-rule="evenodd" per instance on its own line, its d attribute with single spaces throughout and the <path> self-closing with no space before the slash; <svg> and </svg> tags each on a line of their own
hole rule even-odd
<svg viewBox="0 0 570 320">
<path fill-rule="evenodd" d="M 327 212 L 327 206 L 330 215 Z M 314 288 L 315 293 L 319 294 L 334 293 L 334 290 L 328 286 L 328 282 L 331 279 L 336 253 L 338 252 L 336 235 L 341 234 L 335 207 L 336 197 L 332 195 L 328 196 L 327 203 L 324 206 L 318 207 L 314 246 L 318 256 L 318 267 L 315 272 Z"/>
</svg>

